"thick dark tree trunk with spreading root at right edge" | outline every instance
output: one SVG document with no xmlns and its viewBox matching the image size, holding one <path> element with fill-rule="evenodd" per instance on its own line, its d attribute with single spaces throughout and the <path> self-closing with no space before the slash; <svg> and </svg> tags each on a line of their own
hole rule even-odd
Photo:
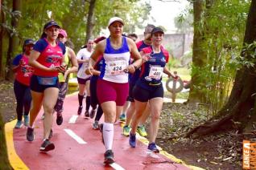
<svg viewBox="0 0 256 170">
<path fill-rule="evenodd" d="M 251 44 L 256 39 L 256 0 L 252 0 L 246 22 L 246 33 L 244 45 Z M 246 46 L 244 50 L 246 49 Z M 244 51 L 243 50 L 243 51 Z M 255 47 L 254 50 L 255 51 Z M 242 52 L 242 57 L 250 60 L 250 55 Z M 251 129 L 250 126 L 256 121 L 255 108 L 256 101 L 256 75 L 255 67 L 243 66 L 237 71 L 233 89 L 229 101 L 219 111 L 218 116 L 221 119 L 208 122 L 195 127 L 187 136 L 204 136 L 221 130 L 237 129 L 239 132 L 245 129 Z"/>
</svg>

